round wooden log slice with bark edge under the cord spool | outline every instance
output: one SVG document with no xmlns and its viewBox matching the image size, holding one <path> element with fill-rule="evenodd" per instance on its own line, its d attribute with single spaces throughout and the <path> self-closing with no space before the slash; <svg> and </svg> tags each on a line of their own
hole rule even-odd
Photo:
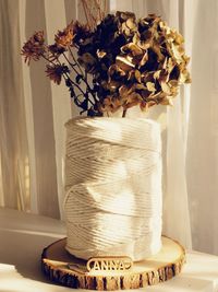
<svg viewBox="0 0 218 292">
<path fill-rule="evenodd" d="M 171 238 L 162 236 L 161 250 L 123 271 L 99 271 L 86 268 L 86 260 L 70 255 L 65 238 L 46 247 L 41 255 L 44 273 L 62 285 L 76 289 L 119 290 L 157 284 L 180 273 L 185 262 L 185 250 Z"/>
</svg>

